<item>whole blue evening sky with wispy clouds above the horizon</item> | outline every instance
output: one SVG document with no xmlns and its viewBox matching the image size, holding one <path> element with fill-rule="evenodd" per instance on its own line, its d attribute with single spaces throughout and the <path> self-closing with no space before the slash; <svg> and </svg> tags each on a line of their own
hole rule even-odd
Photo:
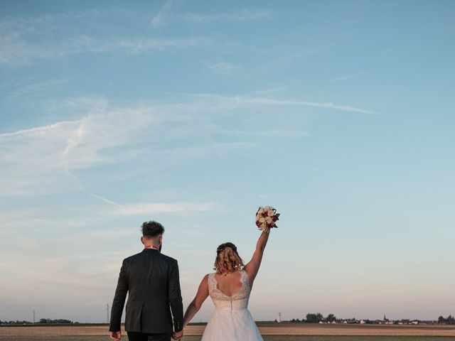
<svg viewBox="0 0 455 341">
<path fill-rule="evenodd" d="M 0 320 L 105 322 L 147 220 L 186 308 L 262 205 L 256 320 L 455 314 L 454 1 L 4 0 L 0 33 Z"/>
</svg>

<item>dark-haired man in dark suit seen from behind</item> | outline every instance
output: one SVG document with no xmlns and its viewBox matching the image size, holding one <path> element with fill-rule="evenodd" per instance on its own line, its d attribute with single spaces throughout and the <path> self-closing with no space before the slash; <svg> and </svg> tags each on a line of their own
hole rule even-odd
<svg viewBox="0 0 455 341">
<path fill-rule="evenodd" d="M 129 341 L 169 341 L 183 336 L 183 304 L 176 259 L 161 254 L 164 227 L 142 224 L 144 250 L 124 259 L 112 303 L 110 337 L 118 341 L 127 297 L 125 330 Z M 172 310 L 172 315 L 171 315 Z"/>
</svg>

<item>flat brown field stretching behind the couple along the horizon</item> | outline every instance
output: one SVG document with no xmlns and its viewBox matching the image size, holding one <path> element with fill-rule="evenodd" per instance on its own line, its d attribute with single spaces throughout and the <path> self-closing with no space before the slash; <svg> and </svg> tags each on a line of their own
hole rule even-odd
<svg viewBox="0 0 455 341">
<path fill-rule="evenodd" d="M 264 341 L 455 341 L 449 325 L 313 325 L 257 323 Z M 200 341 L 204 324 L 188 325 L 183 341 Z M 0 340 L 109 340 L 107 325 L 0 327 Z M 122 340 L 128 340 L 126 332 Z M 239 340 L 240 341 L 240 340 Z"/>
</svg>

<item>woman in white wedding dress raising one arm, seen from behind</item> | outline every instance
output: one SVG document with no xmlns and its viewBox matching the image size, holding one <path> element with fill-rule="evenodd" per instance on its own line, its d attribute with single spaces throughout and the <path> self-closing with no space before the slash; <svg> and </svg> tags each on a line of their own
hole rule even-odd
<svg viewBox="0 0 455 341">
<path fill-rule="evenodd" d="M 255 254 L 247 265 L 243 264 L 234 244 L 225 243 L 218 247 L 216 272 L 205 275 L 200 282 L 196 297 L 183 318 L 183 328 L 210 296 L 215 312 L 205 327 L 201 341 L 262 341 L 255 320 L 247 308 L 268 239 L 269 231 L 263 231 L 257 241 Z"/>
</svg>

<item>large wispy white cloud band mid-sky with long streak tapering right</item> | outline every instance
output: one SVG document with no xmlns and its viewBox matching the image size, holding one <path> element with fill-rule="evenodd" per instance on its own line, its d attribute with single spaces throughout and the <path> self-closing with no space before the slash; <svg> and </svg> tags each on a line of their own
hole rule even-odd
<svg viewBox="0 0 455 341">
<path fill-rule="evenodd" d="M 257 141 L 247 139 L 252 136 L 279 139 L 309 136 L 304 130 L 286 126 L 263 131 L 220 128 L 220 122 L 231 121 L 232 115 L 235 117 L 245 109 L 255 112 L 267 109 L 273 114 L 281 107 L 294 111 L 313 107 L 375 114 L 361 107 L 331 102 L 218 94 L 189 94 L 169 104 L 132 107 L 112 107 L 106 99 L 87 97 L 68 99 L 63 105 L 79 111 L 80 118 L 0 134 L 0 158 L 4 163 L 0 168 L 0 196 L 85 190 L 87 195 L 118 207 L 122 205 L 118 200 L 108 199 L 83 185 L 77 172 L 137 162 L 141 158 L 153 159 L 166 168 L 210 155 L 231 155 L 240 150 L 247 153 L 257 148 Z M 53 106 L 58 112 L 58 103 Z M 228 136 L 228 140 L 217 141 L 220 134 Z M 238 136 L 245 138 L 239 141 Z"/>
</svg>

